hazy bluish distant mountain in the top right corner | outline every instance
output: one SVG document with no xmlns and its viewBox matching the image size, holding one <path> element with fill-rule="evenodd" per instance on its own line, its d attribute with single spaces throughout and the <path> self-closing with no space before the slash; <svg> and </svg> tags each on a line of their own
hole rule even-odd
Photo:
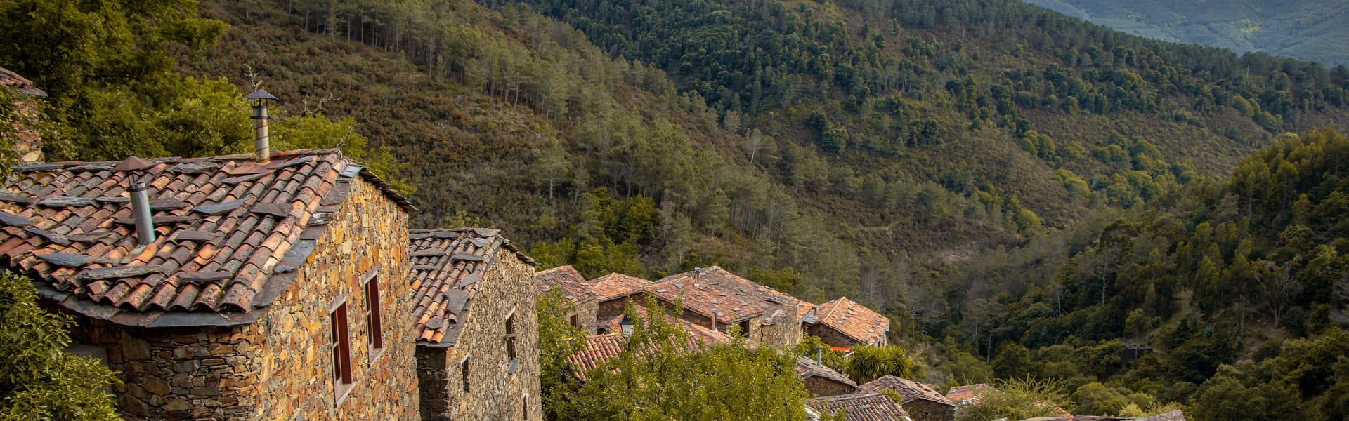
<svg viewBox="0 0 1349 421">
<path fill-rule="evenodd" d="M 1349 65 L 1349 1 L 1025 0 L 1118 31 L 1233 51 Z"/>
</svg>

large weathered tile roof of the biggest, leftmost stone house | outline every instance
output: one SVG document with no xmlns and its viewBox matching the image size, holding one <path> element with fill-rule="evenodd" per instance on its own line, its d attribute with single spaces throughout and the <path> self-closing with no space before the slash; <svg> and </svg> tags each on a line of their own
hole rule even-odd
<svg viewBox="0 0 1349 421">
<path fill-rule="evenodd" d="M 15 167 L 0 190 L 0 263 L 43 297 L 123 325 L 240 325 L 262 317 L 316 248 L 359 175 L 339 150 L 128 158 Z M 150 186 L 156 240 L 140 246 L 128 189 Z M 263 309 L 263 310 L 259 310 Z"/>
</svg>

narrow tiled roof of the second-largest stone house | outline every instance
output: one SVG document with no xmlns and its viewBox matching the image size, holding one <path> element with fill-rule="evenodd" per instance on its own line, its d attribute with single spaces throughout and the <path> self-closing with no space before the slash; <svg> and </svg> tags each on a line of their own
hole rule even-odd
<svg viewBox="0 0 1349 421">
<path fill-rule="evenodd" d="M 534 264 L 496 229 L 413 229 L 407 239 L 407 256 L 413 263 L 407 277 L 417 291 L 413 296 L 417 301 L 413 333 L 422 345 L 455 344 L 473 305 L 473 296 L 482 287 L 479 281 L 502 250 Z"/>
</svg>

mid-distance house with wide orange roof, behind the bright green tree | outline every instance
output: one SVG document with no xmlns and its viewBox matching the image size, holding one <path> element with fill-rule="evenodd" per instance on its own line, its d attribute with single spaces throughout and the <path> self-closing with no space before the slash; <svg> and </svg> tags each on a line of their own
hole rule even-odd
<svg viewBox="0 0 1349 421">
<path fill-rule="evenodd" d="M 665 277 L 643 289 L 662 304 L 684 305 L 684 318 L 711 331 L 738 327 L 750 344 L 793 347 L 801 341 L 796 297 L 704 267 Z"/>
</svg>

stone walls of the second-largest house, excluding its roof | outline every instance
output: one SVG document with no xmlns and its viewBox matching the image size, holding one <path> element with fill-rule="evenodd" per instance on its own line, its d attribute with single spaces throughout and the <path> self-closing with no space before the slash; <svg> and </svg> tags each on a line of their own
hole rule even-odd
<svg viewBox="0 0 1349 421">
<path fill-rule="evenodd" d="M 492 262 L 455 345 L 417 347 L 422 420 L 542 418 L 534 267 L 505 248 Z M 517 332 L 514 360 L 507 358 L 505 345 L 510 314 Z M 514 371 L 513 363 L 518 363 Z"/>
</svg>

